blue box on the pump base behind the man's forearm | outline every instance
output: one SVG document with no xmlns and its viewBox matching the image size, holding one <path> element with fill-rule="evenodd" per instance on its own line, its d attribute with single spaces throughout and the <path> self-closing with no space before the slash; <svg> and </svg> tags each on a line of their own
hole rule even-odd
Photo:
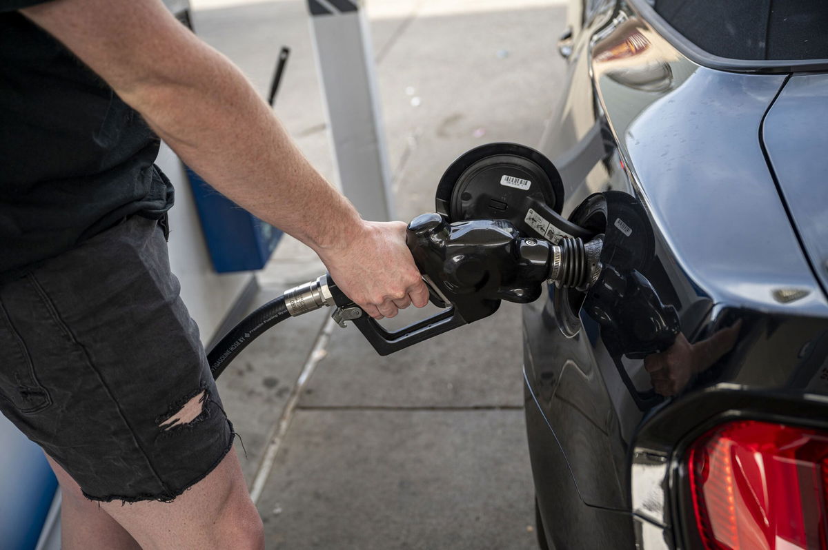
<svg viewBox="0 0 828 550">
<path fill-rule="evenodd" d="M 186 171 L 216 272 L 262 269 L 282 232 L 220 194 L 190 168 Z"/>
</svg>

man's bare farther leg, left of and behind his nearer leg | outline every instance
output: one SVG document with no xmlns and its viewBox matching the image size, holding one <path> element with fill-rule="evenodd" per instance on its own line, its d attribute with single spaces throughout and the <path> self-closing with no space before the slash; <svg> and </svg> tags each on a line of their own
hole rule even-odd
<svg viewBox="0 0 828 550">
<path fill-rule="evenodd" d="M 60 483 L 60 548 L 112 548 L 112 550 L 140 550 L 140 546 L 109 515 L 98 502 L 87 499 L 80 487 L 60 464 L 46 455 L 49 466 Z"/>
</svg>

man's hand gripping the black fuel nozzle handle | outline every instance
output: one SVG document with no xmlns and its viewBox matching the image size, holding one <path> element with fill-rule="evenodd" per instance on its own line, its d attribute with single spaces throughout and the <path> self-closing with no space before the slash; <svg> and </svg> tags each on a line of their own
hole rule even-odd
<svg viewBox="0 0 828 550">
<path fill-rule="evenodd" d="M 406 246 L 403 222 L 362 222 L 349 242 L 320 250 L 336 285 L 371 317 L 428 304 L 428 289 Z"/>
</svg>

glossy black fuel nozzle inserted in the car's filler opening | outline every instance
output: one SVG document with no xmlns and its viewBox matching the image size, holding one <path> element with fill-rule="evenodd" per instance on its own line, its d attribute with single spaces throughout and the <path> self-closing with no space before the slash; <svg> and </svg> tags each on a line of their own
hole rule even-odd
<svg viewBox="0 0 828 550">
<path fill-rule="evenodd" d="M 552 244 L 524 237 L 506 220 L 449 223 L 440 214 L 422 214 L 408 225 L 407 245 L 429 288 L 431 303 L 444 308 L 430 318 L 390 332 L 345 296 L 330 277 L 320 278 L 318 284 L 326 288 L 315 291 L 332 297 L 340 326 L 353 321 L 383 356 L 489 317 L 501 300 L 532 302 L 546 281 L 562 288 L 588 289 L 601 271 L 602 236 L 586 243 L 564 238 Z"/>
</svg>

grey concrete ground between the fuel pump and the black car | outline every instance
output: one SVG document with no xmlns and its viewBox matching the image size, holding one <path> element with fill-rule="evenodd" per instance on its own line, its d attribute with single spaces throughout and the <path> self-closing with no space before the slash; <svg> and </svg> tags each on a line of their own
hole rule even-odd
<svg viewBox="0 0 828 550">
<path fill-rule="evenodd" d="M 262 95 L 291 47 L 276 111 L 332 178 L 306 3 L 193 4 L 196 32 Z M 470 148 L 537 145 L 566 70 L 560 1 L 373 0 L 365 10 L 397 218 L 431 211 L 443 170 Z M 323 270 L 283 239 L 256 304 Z M 219 381 L 267 548 L 537 548 L 520 309 L 504 304 L 388 357 L 327 313 L 267 332 Z"/>
</svg>

